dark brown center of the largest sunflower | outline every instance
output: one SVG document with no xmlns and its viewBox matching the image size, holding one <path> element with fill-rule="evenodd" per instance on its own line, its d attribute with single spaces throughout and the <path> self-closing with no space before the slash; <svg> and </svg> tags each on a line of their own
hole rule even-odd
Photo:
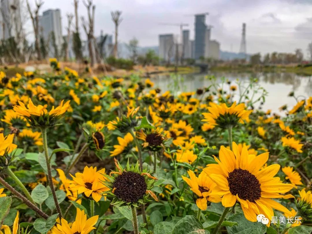
<svg viewBox="0 0 312 234">
<path fill-rule="evenodd" d="M 235 168 L 227 177 L 230 192 L 243 200 L 255 202 L 261 197 L 261 184 L 249 171 Z"/>
</svg>

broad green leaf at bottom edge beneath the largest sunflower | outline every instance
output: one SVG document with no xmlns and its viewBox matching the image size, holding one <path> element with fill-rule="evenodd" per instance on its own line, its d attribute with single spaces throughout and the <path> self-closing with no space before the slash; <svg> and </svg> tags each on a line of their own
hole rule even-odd
<svg viewBox="0 0 312 234">
<path fill-rule="evenodd" d="M 250 222 L 244 214 L 238 213 L 228 217 L 227 221 L 237 222 L 237 226 L 227 227 L 228 234 L 264 234 L 266 233 L 266 225 L 261 222 Z"/>
</svg>

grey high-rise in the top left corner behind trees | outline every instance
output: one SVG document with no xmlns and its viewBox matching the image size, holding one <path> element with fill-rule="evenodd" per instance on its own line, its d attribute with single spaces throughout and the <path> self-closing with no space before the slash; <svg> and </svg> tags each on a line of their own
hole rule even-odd
<svg viewBox="0 0 312 234">
<path fill-rule="evenodd" d="M 0 38 L 21 37 L 22 22 L 20 0 L 0 1 Z M 19 35 L 17 35 L 19 34 Z"/>
</svg>

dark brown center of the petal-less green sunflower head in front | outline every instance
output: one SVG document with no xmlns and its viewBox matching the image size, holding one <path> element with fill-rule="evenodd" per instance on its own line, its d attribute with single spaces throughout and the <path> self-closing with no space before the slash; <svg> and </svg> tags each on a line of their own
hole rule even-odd
<svg viewBox="0 0 312 234">
<path fill-rule="evenodd" d="M 146 193 L 147 185 L 144 176 L 135 172 L 123 172 L 115 178 L 114 194 L 125 202 L 137 202 Z"/>
</svg>

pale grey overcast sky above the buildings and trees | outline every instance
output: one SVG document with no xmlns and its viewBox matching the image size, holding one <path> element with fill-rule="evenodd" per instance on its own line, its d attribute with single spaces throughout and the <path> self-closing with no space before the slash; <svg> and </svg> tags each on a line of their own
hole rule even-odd
<svg viewBox="0 0 312 234">
<path fill-rule="evenodd" d="M 29 0 L 33 3 L 34 0 Z M 157 46 L 158 35 L 173 33 L 179 36 L 178 26 L 159 23 L 188 23 L 194 38 L 193 14 L 209 12 L 206 22 L 211 24 L 212 39 L 220 42 L 222 51 L 238 52 L 242 23 L 246 22 L 247 53 L 293 52 L 301 48 L 307 54 L 312 41 L 312 0 L 93 0 L 95 34 L 113 34 L 110 12 L 122 11 L 119 41 L 136 37 L 140 46 Z M 66 34 L 66 13 L 73 13 L 72 0 L 45 0 L 41 12 L 60 8 L 63 34 Z M 80 16 L 86 16 L 82 0 Z M 27 27 L 31 30 L 30 22 Z M 80 33 L 85 38 L 81 27 Z"/>
</svg>

